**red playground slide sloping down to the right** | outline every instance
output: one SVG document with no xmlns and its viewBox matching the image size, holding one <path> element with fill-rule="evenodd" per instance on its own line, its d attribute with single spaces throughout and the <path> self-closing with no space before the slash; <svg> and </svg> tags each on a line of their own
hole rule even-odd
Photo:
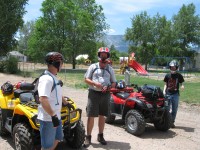
<svg viewBox="0 0 200 150">
<path fill-rule="evenodd" d="M 138 72 L 141 75 L 148 75 L 148 72 L 135 60 L 130 60 L 129 67 L 133 68 L 136 72 Z"/>
</svg>

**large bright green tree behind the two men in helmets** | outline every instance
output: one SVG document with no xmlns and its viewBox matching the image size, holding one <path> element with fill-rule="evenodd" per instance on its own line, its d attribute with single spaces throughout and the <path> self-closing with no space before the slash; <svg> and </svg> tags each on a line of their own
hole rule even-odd
<svg viewBox="0 0 200 150">
<path fill-rule="evenodd" d="M 96 53 L 96 41 L 107 24 L 95 0 L 45 0 L 41 11 L 43 16 L 36 21 L 29 41 L 33 60 L 39 61 L 48 51 L 58 51 L 75 69 L 76 56 Z"/>
</svg>

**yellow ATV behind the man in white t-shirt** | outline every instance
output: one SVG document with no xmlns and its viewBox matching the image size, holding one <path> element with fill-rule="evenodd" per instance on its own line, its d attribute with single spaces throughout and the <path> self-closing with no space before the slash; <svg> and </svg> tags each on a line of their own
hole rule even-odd
<svg viewBox="0 0 200 150">
<path fill-rule="evenodd" d="M 71 107 L 63 105 L 61 110 L 64 138 L 72 148 L 78 149 L 85 138 L 82 110 L 76 107 L 73 100 L 67 100 Z M 1 86 L 0 135 L 11 133 L 16 150 L 32 150 L 40 145 L 38 105 L 32 83 L 23 83 L 17 88 L 9 82 Z"/>
</svg>

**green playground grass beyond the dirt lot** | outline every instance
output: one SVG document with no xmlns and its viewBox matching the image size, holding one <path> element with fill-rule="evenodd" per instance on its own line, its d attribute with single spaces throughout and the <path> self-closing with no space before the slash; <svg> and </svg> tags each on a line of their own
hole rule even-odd
<svg viewBox="0 0 200 150">
<path fill-rule="evenodd" d="M 32 77 L 37 77 L 41 74 L 42 70 L 32 73 Z M 72 70 L 67 69 L 58 74 L 58 77 L 62 79 L 65 86 L 73 88 L 88 88 L 87 84 L 84 82 L 84 74 L 86 70 Z M 124 75 L 116 74 L 117 80 L 124 79 Z M 200 80 L 200 79 L 199 79 Z M 144 84 L 156 85 L 163 89 L 163 80 L 151 79 L 149 77 L 143 76 L 133 76 L 131 75 L 131 83 L 137 84 L 139 86 Z M 184 91 L 180 91 L 180 100 L 187 103 L 200 104 L 200 81 L 197 82 L 185 82 Z"/>
</svg>

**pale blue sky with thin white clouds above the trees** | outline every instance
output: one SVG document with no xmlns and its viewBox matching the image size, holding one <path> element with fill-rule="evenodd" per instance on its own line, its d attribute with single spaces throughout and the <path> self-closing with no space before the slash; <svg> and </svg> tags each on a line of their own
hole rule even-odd
<svg viewBox="0 0 200 150">
<path fill-rule="evenodd" d="M 28 1 L 25 21 L 41 16 L 42 2 L 43 0 Z M 159 13 L 171 19 L 183 4 L 193 3 L 196 6 L 196 14 L 200 15 L 200 0 L 96 0 L 96 3 L 103 6 L 106 22 L 110 25 L 110 35 L 123 35 L 125 30 L 131 27 L 131 18 L 143 11 L 147 11 L 150 16 Z"/>
</svg>

